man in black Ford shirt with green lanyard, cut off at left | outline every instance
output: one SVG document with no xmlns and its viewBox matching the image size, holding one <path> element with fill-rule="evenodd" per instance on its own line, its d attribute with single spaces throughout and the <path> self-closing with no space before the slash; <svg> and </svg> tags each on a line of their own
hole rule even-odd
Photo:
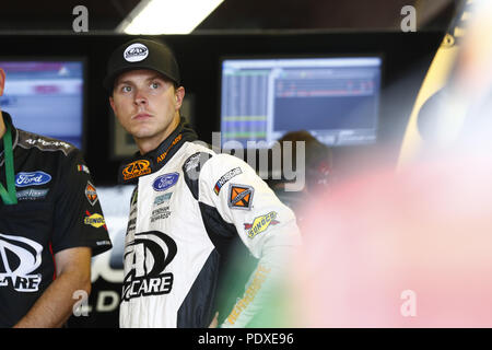
<svg viewBox="0 0 492 350">
<path fill-rule="evenodd" d="M 0 69 L 0 96 L 4 83 Z M 0 327 L 62 326 L 110 247 L 80 151 L 0 110 Z"/>
</svg>

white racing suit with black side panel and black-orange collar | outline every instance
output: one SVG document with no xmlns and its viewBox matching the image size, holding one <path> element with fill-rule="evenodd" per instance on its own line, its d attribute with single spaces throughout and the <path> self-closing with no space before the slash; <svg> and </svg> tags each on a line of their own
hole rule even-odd
<svg viewBox="0 0 492 350">
<path fill-rule="evenodd" d="M 125 240 L 121 327 L 208 327 L 219 268 L 239 237 L 258 259 L 221 327 L 246 327 L 300 244 L 291 209 L 255 171 L 191 142 L 184 121 L 155 151 L 122 167 L 138 178 Z"/>
</svg>

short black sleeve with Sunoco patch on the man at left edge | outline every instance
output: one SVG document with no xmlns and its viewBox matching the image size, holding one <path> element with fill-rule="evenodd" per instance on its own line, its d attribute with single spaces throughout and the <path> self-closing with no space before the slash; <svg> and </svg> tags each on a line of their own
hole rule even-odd
<svg viewBox="0 0 492 350">
<path fill-rule="evenodd" d="M 90 171 L 79 150 L 67 155 L 55 201 L 52 250 L 91 247 L 95 256 L 112 247 Z"/>
</svg>

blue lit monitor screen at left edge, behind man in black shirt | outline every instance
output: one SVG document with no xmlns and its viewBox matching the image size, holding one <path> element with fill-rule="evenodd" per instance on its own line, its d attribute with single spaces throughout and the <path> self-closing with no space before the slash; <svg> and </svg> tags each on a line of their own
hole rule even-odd
<svg viewBox="0 0 492 350">
<path fill-rule="evenodd" d="M 15 127 L 82 149 L 83 59 L 1 59 L 5 88 L 1 109 Z"/>
</svg>

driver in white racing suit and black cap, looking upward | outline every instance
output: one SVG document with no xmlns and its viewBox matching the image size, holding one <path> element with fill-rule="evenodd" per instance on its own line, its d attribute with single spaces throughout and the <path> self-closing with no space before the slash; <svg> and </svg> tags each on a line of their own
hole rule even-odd
<svg viewBox="0 0 492 350">
<path fill-rule="evenodd" d="M 122 183 L 137 183 L 120 326 L 208 327 L 221 265 L 239 237 L 257 267 L 221 326 L 245 327 L 268 300 L 300 232 L 293 212 L 250 166 L 192 142 L 197 136 L 179 116 L 179 83 L 163 44 L 134 39 L 109 58 L 109 103 L 140 150 L 119 173 Z"/>
</svg>

